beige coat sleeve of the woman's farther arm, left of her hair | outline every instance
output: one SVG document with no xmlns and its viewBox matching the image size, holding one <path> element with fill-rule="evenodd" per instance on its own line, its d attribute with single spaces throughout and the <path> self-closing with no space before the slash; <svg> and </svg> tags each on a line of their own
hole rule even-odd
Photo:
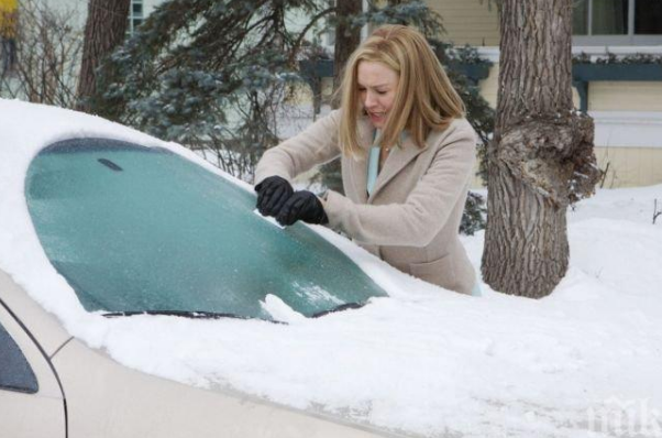
<svg viewBox="0 0 662 438">
<path fill-rule="evenodd" d="M 340 111 L 334 110 L 299 134 L 267 150 L 255 168 L 255 184 L 273 175 L 291 180 L 318 164 L 340 155 Z"/>
</svg>

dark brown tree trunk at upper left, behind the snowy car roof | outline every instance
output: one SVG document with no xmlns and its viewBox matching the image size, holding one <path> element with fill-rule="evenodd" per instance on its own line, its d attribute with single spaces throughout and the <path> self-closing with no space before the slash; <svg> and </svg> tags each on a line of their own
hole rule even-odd
<svg viewBox="0 0 662 438">
<path fill-rule="evenodd" d="M 89 0 L 88 2 L 77 92 L 78 110 L 87 110 L 88 105 L 85 100 L 96 92 L 97 67 L 124 41 L 130 6 L 131 0 Z"/>
</svg>

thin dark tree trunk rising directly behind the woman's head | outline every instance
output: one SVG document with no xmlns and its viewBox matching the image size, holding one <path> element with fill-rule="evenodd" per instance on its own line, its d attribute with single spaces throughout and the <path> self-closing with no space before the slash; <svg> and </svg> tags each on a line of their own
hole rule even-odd
<svg viewBox="0 0 662 438">
<path fill-rule="evenodd" d="M 333 91 L 340 87 L 342 72 L 350 55 L 358 47 L 361 43 L 361 28 L 350 26 L 349 20 L 363 12 L 363 2 L 361 0 L 336 0 L 335 17 L 335 51 L 333 54 Z M 339 100 L 339 99 L 335 99 Z M 331 103 L 333 108 L 340 106 L 340 101 Z"/>
</svg>

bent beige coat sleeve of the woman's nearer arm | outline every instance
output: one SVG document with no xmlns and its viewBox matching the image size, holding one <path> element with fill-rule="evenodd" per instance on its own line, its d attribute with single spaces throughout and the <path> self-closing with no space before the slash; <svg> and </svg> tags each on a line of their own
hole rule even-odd
<svg viewBox="0 0 662 438">
<path fill-rule="evenodd" d="M 456 202 L 466 196 L 475 163 L 475 132 L 465 122 L 453 127 L 430 166 L 404 204 L 361 205 L 329 191 L 324 210 L 329 226 L 362 243 L 426 247 L 449 220 Z M 449 128 L 452 129 L 452 128 Z"/>
</svg>

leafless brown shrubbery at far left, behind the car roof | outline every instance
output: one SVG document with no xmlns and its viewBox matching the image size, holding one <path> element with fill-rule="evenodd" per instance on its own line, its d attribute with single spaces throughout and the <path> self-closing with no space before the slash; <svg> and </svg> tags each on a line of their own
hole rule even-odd
<svg viewBox="0 0 662 438">
<path fill-rule="evenodd" d="M 0 76 L 0 95 L 71 108 L 81 51 L 81 35 L 70 9 L 21 1 L 16 61 L 11 75 Z"/>
</svg>

